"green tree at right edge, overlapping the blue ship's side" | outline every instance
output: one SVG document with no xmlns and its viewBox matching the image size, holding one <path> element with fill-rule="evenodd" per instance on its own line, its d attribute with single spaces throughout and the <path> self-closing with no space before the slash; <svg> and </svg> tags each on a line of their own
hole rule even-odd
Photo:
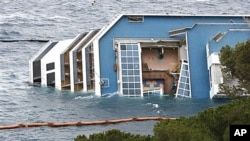
<svg viewBox="0 0 250 141">
<path fill-rule="evenodd" d="M 237 86 L 220 85 L 223 92 L 229 96 L 241 94 L 243 88 L 250 92 L 250 40 L 238 43 L 234 48 L 222 47 L 219 59 L 223 76 L 239 80 Z"/>
</svg>

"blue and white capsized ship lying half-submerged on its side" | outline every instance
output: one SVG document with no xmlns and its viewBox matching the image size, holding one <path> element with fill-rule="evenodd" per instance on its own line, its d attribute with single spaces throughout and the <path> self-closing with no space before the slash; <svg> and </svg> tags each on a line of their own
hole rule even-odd
<svg viewBox="0 0 250 141">
<path fill-rule="evenodd" d="M 29 61 L 30 83 L 98 96 L 213 98 L 220 49 L 250 38 L 249 16 L 122 14 L 101 29 L 48 42 Z"/>
</svg>

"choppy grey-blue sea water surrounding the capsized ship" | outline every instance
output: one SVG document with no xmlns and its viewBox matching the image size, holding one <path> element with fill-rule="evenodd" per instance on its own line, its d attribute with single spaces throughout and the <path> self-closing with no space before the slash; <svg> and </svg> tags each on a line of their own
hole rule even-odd
<svg viewBox="0 0 250 141">
<path fill-rule="evenodd" d="M 250 0 L 1 0 L 0 40 L 73 38 L 101 28 L 120 13 L 250 14 Z M 188 116 L 223 104 L 173 97 L 95 97 L 28 84 L 28 60 L 43 43 L 0 42 L 0 125 L 64 122 L 136 116 Z M 157 105 L 157 106 L 155 106 Z M 152 134 L 156 122 L 108 126 L 20 128 L 0 131 L 3 141 L 69 141 L 117 128 Z"/>
</svg>

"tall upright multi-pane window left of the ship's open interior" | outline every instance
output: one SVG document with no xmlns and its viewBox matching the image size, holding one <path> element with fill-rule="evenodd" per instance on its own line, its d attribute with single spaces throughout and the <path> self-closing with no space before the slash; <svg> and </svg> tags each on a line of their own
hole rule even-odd
<svg viewBox="0 0 250 141">
<path fill-rule="evenodd" d="M 120 44 L 120 73 L 125 96 L 141 96 L 141 72 L 137 43 Z"/>
</svg>

